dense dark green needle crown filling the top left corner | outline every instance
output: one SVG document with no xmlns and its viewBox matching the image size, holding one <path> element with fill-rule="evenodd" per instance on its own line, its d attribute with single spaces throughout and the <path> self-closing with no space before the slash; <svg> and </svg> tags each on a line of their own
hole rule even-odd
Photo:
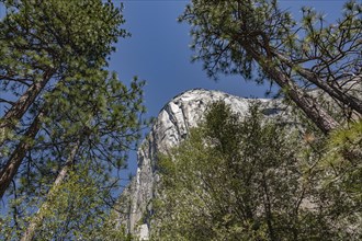
<svg viewBox="0 0 362 241">
<path fill-rule="evenodd" d="M 81 73 L 81 66 L 103 66 L 112 43 L 126 36 L 121 9 L 100 0 L 1 1 L 1 66 L 7 77 L 32 80 L 41 71 Z"/>
</svg>

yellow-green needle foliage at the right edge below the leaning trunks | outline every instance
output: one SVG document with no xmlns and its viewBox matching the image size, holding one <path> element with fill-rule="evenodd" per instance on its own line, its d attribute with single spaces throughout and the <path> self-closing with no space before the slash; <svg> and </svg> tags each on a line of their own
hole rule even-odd
<svg viewBox="0 0 362 241">
<path fill-rule="evenodd" d="M 323 186 L 331 196 L 332 211 L 354 220 L 351 227 L 362 230 L 362 122 L 340 128 L 328 139 L 326 152 L 318 168 L 324 171 Z M 357 236 L 362 238 L 362 233 Z"/>
</svg>

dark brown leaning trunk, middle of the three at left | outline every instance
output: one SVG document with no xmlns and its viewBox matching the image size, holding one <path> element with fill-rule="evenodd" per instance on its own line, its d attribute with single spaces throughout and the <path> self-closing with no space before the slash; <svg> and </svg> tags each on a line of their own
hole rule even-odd
<svg viewBox="0 0 362 241">
<path fill-rule="evenodd" d="M 32 125 L 29 127 L 27 131 L 25 133 L 24 137 L 12 152 L 11 157 L 9 158 L 5 167 L 0 171 L 0 199 L 2 198 L 4 192 L 9 187 L 11 181 L 18 173 L 18 170 L 26 154 L 26 151 L 33 147 L 33 140 L 41 129 L 41 118 L 45 115 L 44 112 L 41 112 L 35 119 L 33 120 Z"/>
</svg>

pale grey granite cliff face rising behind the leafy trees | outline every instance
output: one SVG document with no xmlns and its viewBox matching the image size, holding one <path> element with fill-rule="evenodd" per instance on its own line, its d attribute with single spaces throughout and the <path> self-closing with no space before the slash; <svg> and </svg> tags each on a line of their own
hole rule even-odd
<svg viewBox="0 0 362 241">
<path fill-rule="evenodd" d="M 149 135 L 138 149 L 137 174 L 123 192 L 117 222 L 126 227 L 128 232 L 140 240 L 148 240 L 151 228 L 150 215 L 152 197 L 157 195 L 157 153 L 166 153 L 171 147 L 180 144 L 190 130 L 202 119 L 207 104 L 225 101 L 234 112 L 241 116 L 254 99 L 242 99 L 219 91 L 195 89 L 172 99 L 160 111 Z M 268 116 L 278 116 L 282 112 L 281 104 L 275 100 L 258 99 Z"/>
</svg>

